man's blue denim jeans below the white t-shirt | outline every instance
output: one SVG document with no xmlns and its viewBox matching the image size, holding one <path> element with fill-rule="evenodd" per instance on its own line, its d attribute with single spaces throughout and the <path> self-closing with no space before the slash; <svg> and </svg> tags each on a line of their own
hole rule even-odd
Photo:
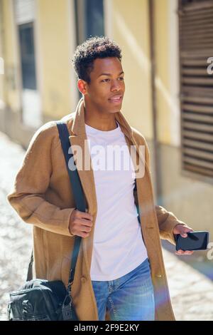
<svg viewBox="0 0 213 335">
<path fill-rule="evenodd" d="M 99 320 L 109 310 L 113 321 L 153 321 L 155 302 L 148 258 L 125 276 L 109 282 L 92 281 Z"/>
</svg>

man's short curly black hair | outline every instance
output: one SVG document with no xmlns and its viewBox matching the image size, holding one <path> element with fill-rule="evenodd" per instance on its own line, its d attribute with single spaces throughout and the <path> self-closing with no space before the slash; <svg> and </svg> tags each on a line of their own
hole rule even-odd
<svg viewBox="0 0 213 335">
<path fill-rule="evenodd" d="M 94 60 L 107 57 L 117 57 L 121 61 L 121 48 L 116 42 L 105 36 L 88 38 L 77 46 L 72 58 L 77 77 L 90 83 L 89 74 L 92 72 Z"/>
</svg>

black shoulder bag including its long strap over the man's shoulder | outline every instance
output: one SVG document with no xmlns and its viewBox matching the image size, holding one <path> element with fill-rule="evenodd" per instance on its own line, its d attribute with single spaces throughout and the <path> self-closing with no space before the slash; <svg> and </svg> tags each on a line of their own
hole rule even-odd
<svg viewBox="0 0 213 335">
<path fill-rule="evenodd" d="M 62 150 L 65 155 L 67 171 L 70 177 L 72 192 L 75 197 L 76 208 L 85 212 L 86 202 L 78 175 L 77 169 L 70 170 L 68 161 L 71 160 L 75 165 L 72 150 L 70 147 L 69 132 L 67 125 L 62 121 L 57 121 L 58 132 Z M 70 148 L 71 153 L 68 153 Z M 60 280 L 48 282 L 45 279 L 32 279 L 33 253 L 31 262 L 28 266 L 27 282 L 18 291 L 10 293 L 8 304 L 9 321 L 26 320 L 26 321 L 74 321 L 78 320 L 75 308 L 72 304 L 71 284 L 74 280 L 75 266 L 77 256 L 80 250 L 82 237 L 75 237 L 75 245 L 72 253 L 70 267 L 70 276 L 67 287 Z"/>
</svg>

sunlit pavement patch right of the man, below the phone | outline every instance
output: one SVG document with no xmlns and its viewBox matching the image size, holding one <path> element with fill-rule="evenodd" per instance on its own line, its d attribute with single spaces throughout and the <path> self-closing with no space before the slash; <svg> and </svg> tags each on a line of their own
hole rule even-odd
<svg viewBox="0 0 213 335">
<path fill-rule="evenodd" d="M 176 320 L 213 321 L 213 282 L 163 249 Z"/>
</svg>

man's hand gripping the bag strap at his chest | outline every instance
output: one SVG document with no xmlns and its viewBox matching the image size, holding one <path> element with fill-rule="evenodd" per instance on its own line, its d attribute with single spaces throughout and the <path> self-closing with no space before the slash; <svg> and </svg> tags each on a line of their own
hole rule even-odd
<svg viewBox="0 0 213 335">
<path fill-rule="evenodd" d="M 73 210 L 70 216 L 69 230 L 72 235 L 88 237 L 92 230 L 92 215 L 80 210 Z"/>
</svg>

